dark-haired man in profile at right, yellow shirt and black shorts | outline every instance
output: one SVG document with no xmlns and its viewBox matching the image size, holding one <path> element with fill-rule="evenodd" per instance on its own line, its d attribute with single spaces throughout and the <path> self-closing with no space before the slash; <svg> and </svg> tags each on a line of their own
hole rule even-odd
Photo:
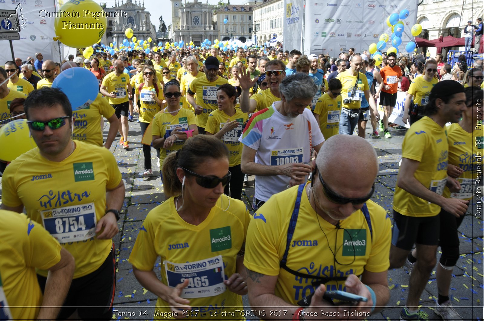
<svg viewBox="0 0 484 321">
<path fill-rule="evenodd" d="M 390 268 L 414 263 L 410 253 L 414 244 L 417 262 L 410 274 L 407 305 L 400 320 L 427 320 L 427 313 L 418 306 L 436 264 L 440 210 L 455 217 L 467 211 L 469 201 L 442 196 L 445 186 L 453 192 L 460 190 L 459 182 L 447 175 L 449 147 L 445 124 L 458 122 L 466 109 L 464 88 L 453 80 L 441 81 L 430 92 L 426 116 L 410 126 L 403 140 L 402 163 L 393 197 Z"/>
</svg>

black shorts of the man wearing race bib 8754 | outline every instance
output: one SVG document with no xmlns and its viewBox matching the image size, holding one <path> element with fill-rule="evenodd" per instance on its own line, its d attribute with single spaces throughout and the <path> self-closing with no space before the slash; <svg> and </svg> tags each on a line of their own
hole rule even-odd
<svg viewBox="0 0 484 321">
<path fill-rule="evenodd" d="M 114 244 L 104 263 L 94 272 L 72 280 L 59 319 L 67 319 L 77 309 L 82 320 L 111 320 L 116 280 Z M 37 275 L 42 292 L 46 277 Z"/>
</svg>

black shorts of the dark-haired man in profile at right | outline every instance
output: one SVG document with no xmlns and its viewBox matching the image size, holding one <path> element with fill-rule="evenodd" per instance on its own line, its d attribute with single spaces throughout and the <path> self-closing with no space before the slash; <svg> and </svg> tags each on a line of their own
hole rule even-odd
<svg viewBox="0 0 484 321">
<path fill-rule="evenodd" d="M 392 244 L 411 250 L 413 244 L 439 245 L 440 216 L 416 218 L 393 210 Z"/>
</svg>

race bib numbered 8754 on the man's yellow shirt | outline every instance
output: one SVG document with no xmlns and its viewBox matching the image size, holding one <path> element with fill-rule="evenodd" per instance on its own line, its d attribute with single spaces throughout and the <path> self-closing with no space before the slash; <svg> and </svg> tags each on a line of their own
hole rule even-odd
<svg viewBox="0 0 484 321">
<path fill-rule="evenodd" d="M 45 230 L 59 243 L 84 241 L 96 235 L 94 203 L 54 208 L 40 214 Z"/>
</svg>

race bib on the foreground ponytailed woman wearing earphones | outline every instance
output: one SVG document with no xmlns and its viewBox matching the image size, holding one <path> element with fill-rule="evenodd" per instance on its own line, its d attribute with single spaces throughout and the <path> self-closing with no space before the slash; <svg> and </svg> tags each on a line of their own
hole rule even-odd
<svg viewBox="0 0 484 321">
<path fill-rule="evenodd" d="M 170 288 L 188 279 L 188 286 L 181 292 L 182 298 L 204 298 L 225 292 L 224 262 L 222 255 L 197 262 L 163 262 L 166 281 Z"/>
</svg>

